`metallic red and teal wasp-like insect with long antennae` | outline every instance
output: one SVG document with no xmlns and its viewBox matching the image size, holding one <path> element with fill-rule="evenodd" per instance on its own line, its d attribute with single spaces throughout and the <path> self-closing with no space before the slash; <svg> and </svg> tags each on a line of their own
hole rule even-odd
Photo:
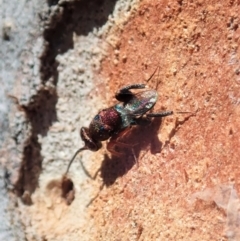
<svg viewBox="0 0 240 241">
<path fill-rule="evenodd" d="M 133 93 L 131 90 L 141 91 Z M 150 112 L 157 102 L 158 93 L 156 90 L 147 89 L 145 84 L 127 85 L 115 94 L 115 98 L 119 103 L 101 110 L 93 118 L 88 128 L 81 128 L 80 136 L 85 145 L 74 154 L 68 164 L 66 174 L 75 157 L 81 151 L 98 151 L 102 147 L 101 142 L 110 139 L 107 149 L 113 155 L 118 155 L 119 153 L 114 151 L 114 146 L 119 144 L 118 137 L 127 131 L 129 127 L 150 122 L 152 117 L 161 118 L 173 114 L 173 111 Z"/>
</svg>

